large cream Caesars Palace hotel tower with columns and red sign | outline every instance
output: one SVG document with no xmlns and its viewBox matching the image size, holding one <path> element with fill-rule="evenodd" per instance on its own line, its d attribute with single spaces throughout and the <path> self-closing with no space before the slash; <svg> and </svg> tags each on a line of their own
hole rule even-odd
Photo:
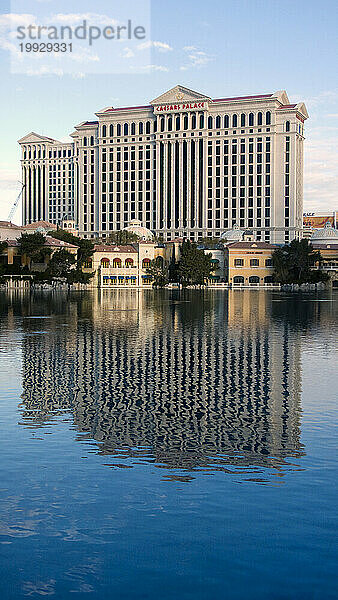
<svg viewBox="0 0 338 600">
<path fill-rule="evenodd" d="M 96 116 L 70 143 L 19 140 L 23 224 L 67 216 L 80 235 L 106 237 L 138 219 L 164 240 L 234 225 L 271 243 L 299 237 L 308 114 L 285 91 L 212 99 L 176 86 Z"/>
</svg>

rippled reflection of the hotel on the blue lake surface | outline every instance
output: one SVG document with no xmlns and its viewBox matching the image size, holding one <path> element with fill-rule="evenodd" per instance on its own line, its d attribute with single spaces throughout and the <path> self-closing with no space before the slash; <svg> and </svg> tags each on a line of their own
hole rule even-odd
<svg viewBox="0 0 338 600">
<path fill-rule="evenodd" d="M 71 413 L 105 463 L 155 463 L 166 478 L 223 470 L 264 481 L 266 468 L 282 476 L 303 454 L 301 331 L 273 297 L 59 295 L 44 321 L 30 317 L 46 304 L 30 298 L 20 309 L 28 316 L 21 423 L 39 427 Z"/>
</svg>

